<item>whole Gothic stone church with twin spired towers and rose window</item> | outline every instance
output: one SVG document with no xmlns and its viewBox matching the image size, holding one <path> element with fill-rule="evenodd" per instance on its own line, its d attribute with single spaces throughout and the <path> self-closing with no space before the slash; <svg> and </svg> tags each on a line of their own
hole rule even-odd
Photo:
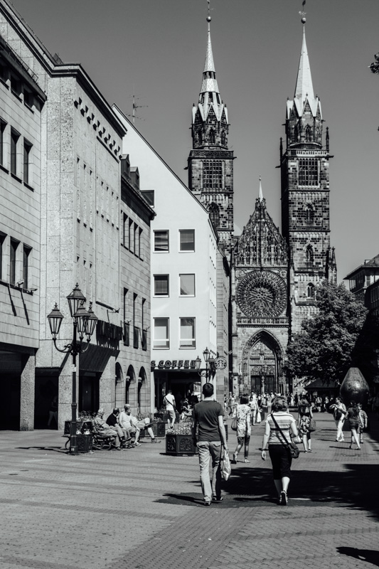
<svg viewBox="0 0 379 569">
<path fill-rule="evenodd" d="M 208 44 L 201 92 L 192 110 L 188 187 L 208 209 L 230 265 L 230 390 L 288 393 L 287 344 L 301 321 L 316 314 L 316 287 L 336 282 L 330 245 L 329 131 L 314 94 L 303 37 L 293 100 L 287 100 L 280 142 L 282 228 L 267 211 L 262 182 L 241 235 L 234 235 L 233 151 L 228 108 Z M 237 191 L 237 189 L 236 189 Z"/>
</svg>

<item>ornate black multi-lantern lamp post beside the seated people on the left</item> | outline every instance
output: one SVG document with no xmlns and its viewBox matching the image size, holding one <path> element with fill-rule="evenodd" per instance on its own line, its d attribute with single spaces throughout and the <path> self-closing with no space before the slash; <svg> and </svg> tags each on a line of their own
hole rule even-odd
<svg viewBox="0 0 379 569">
<path fill-rule="evenodd" d="M 66 344 L 63 349 L 60 349 L 57 346 L 57 336 L 64 317 L 63 314 L 60 313 L 58 304 L 56 303 L 53 310 L 48 314 L 48 323 L 51 335 L 53 336 L 55 349 L 62 353 L 70 353 L 71 356 L 73 356 L 73 398 L 71 402 L 70 454 L 78 454 L 78 445 L 76 442 L 76 356 L 78 353 L 85 352 L 90 346 L 91 336 L 95 331 L 97 323 L 97 317 L 92 310 L 92 302 L 90 302 L 88 311 L 85 309 L 85 296 L 82 294 L 78 283 L 73 289 L 73 292 L 68 295 L 67 300 L 70 315 L 73 319 L 73 340 L 70 344 Z M 84 336 L 87 336 L 87 345 L 85 346 L 82 344 Z"/>
</svg>

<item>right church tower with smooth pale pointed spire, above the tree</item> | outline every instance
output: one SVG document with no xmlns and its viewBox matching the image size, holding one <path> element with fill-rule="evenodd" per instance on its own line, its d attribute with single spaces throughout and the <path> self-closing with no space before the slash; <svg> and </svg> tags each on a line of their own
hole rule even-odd
<svg viewBox="0 0 379 569">
<path fill-rule="evenodd" d="M 336 282 L 330 247 L 329 132 L 323 146 L 321 102 L 314 95 L 302 13 L 303 43 L 294 100 L 287 101 L 286 150 L 280 145 L 282 234 L 290 257 L 291 331 L 316 313 L 316 285 Z"/>
</svg>

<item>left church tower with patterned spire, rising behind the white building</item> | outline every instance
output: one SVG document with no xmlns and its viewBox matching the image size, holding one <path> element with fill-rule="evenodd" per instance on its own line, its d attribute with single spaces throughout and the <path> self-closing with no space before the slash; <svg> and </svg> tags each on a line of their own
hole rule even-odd
<svg viewBox="0 0 379 569">
<path fill-rule="evenodd" d="M 228 150 L 228 109 L 218 90 L 210 41 L 198 104 L 192 110 L 192 150 L 188 156 L 188 187 L 210 213 L 228 258 L 233 236 L 233 151 Z"/>
</svg>

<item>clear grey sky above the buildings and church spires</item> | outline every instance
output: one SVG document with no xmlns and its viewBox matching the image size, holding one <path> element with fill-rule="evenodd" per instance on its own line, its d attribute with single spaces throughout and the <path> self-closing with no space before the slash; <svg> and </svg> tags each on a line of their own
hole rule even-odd
<svg viewBox="0 0 379 569">
<path fill-rule="evenodd" d="M 206 0 L 13 0 L 50 53 L 80 62 L 112 105 L 187 184 L 191 108 L 207 42 Z M 279 139 L 294 96 L 301 0 L 211 0 L 220 95 L 235 152 L 235 233 L 254 210 L 259 176 L 280 227 Z M 306 44 L 324 133 L 329 127 L 331 245 L 338 282 L 379 253 L 378 0 L 306 0 Z M 132 149 L 130 159 L 133 166 Z M 143 180 L 142 180 L 143 186 Z"/>
</svg>

